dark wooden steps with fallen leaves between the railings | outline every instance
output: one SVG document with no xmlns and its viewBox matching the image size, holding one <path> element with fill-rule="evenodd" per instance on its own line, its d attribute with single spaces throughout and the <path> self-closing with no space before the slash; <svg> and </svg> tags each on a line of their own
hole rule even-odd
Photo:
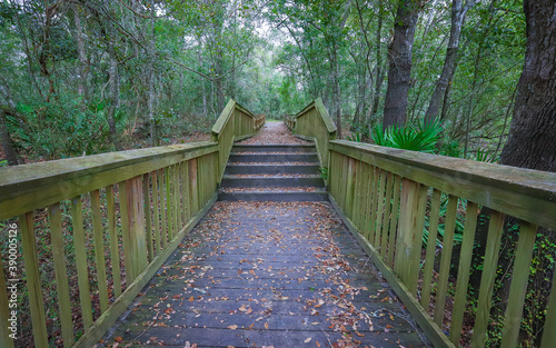
<svg viewBox="0 0 556 348">
<path fill-rule="evenodd" d="M 315 145 L 235 145 L 218 199 L 328 201 Z"/>
</svg>

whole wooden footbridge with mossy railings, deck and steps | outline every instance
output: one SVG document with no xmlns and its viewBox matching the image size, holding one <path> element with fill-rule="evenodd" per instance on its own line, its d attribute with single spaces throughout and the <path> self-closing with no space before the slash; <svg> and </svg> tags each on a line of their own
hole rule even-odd
<svg viewBox="0 0 556 348">
<path fill-rule="evenodd" d="M 335 140 L 320 100 L 285 123 L 230 101 L 211 141 L 1 169 L 0 346 L 522 345 L 556 175 Z"/>
</svg>

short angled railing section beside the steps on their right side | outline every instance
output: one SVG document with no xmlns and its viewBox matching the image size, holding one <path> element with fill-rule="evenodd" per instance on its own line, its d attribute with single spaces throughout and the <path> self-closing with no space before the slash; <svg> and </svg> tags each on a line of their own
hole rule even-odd
<svg viewBox="0 0 556 348">
<path fill-rule="evenodd" d="M 295 117 L 286 117 L 285 123 L 296 136 L 315 141 L 320 163 L 328 168 L 328 142 L 336 139 L 337 129 L 322 100 L 318 98 Z"/>
</svg>

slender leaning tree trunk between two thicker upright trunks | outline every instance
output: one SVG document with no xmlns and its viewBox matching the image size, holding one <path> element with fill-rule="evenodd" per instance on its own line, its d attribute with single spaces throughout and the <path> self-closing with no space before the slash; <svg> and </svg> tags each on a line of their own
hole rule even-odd
<svg viewBox="0 0 556 348">
<path fill-rule="evenodd" d="M 448 84 L 451 83 L 454 71 L 457 67 L 457 52 L 459 50 L 459 38 L 461 37 L 461 28 L 465 23 L 467 12 L 475 6 L 476 0 L 469 0 L 465 6 L 461 0 L 451 1 L 451 27 L 450 38 L 448 40 L 448 48 L 446 50 L 446 58 L 444 60 L 443 72 L 436 82 L 435 91 L 430 98 L 427 113 L 425 115 L 425 122 L 431 123 L 438 117 L 438 111 L 443 105 L 443 97 L 446 95 Z"/>
</svg>

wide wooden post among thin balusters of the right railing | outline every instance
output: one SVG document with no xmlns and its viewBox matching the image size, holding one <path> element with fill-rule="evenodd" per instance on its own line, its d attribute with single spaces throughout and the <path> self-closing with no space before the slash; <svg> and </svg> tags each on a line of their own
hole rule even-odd
<svg viewBox="0 0 556 348">
<path fill-rule="evenodd" d="M 395 272 L 415 296 L 427 205 L 427 187 L 409 179 L 401 180 L 399 225 L 397 230 Z"/>
</svg>

